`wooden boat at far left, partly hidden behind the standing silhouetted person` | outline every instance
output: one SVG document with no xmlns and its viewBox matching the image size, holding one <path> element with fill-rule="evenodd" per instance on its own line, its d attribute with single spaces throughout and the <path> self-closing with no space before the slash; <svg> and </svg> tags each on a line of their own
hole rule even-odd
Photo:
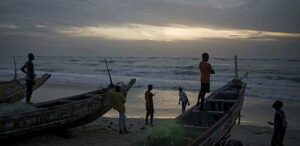
<svg viewBox="0 0 300 146">
<path fill-rule="evenodd" d="M 50 74 L 45 73 L 41 77 L 36 78 L 33 90 L 41 87 L 50 78 L 50 76 Z M 25 79 L 0 82 L 0 103 L 14 103 L 25 98 L 25 95 Z"/>
</svg>

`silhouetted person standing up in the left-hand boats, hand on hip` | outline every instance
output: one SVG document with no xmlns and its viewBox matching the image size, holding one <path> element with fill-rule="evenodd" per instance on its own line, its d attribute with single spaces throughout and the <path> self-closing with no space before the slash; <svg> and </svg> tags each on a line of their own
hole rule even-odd
<svg viewBox="0 0 300 146">
<path fill-rule="evenodd" d="M 34 78 L 35 78 L 35 73 L 34 73 L 34 67 L 33 67 L 33 61 L 34 56 L 32 53 L 28 54 L 28 61 L 24 64 L 24 66 L 21 68 L 21 71 L 26 73 L 26 102 L 30 103 L 30 98 L 32 95 L 32 88 L 33 85 L 35 84 Z"/>
</svg>

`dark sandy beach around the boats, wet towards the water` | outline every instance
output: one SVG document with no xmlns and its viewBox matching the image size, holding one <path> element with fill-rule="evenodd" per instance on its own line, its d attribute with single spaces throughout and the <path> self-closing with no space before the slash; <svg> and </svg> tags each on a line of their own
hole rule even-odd
<svg viewBox="0 0 300 146">
<path fill-rule="evenodd" d="M 76 95 L 96 89 L 94 86 L 73 86 L 45 84 L 34 92 L 32 102 L 42 102 L 56 98 Z M 178 95 L 176 90 L 154 90 L 156 96 L 154 124 L 159 125 L 165 121 L 172 121 L 180 114 Z M 129 146 L 143 138 L 150 126 L 144 125 L 144 90 L 132 88 L 126 102 L 127 127 L 129 134 L 118 133 L 117 112 L 111 110 L 96 121 L 69 130 L 70 137 L 61 137 L 52 133 L 45 133 L 31 138 L 24 138 L 4 145 L 9 146 Z M 187 92 L 191 104 L 195 103 L 196 93 Z M 273 119 L 271 108 L 273 99 L 245 97 L 241 125 L 235 125 L 230 139 L 239 140 L 246 146 L 268 146 L 272 137 L 272 126 L 267 121 Z M 284 144 L 298 146 L 300 144 L 300 122 L 297 112 L 300 110 L 299 102 L 284 100 L 283 110 L 286 112 L 288 129 Z M 189 107 L 188 107 L 189 108 Z M 1 144 L 2 145 L 2 144 Z"/>
</svg>

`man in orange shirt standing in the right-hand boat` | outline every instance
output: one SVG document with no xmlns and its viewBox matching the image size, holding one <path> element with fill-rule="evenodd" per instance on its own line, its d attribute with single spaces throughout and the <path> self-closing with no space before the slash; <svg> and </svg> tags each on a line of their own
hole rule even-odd
<svg viewBox="0 0 300 146">
<path fill-rule="evenodd" d="M 202 54 L 202 61 L 199 63 L 199 69 L 201 73 L 201 89 L 198 94 L 197 105 L 199 104 L 199 98 L 201 99 L 200 109 L 204 109 L 204 97 L 207 92 L 210 92 L 210 74 L 215 74 L 215 71 L 208 63 L 209 55 L 207 53 Z"/>
</svg>

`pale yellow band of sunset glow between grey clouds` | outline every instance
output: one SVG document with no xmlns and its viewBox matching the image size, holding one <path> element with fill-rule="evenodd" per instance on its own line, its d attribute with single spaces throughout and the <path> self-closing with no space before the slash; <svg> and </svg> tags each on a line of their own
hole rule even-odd
<svg viewBox="0 0 300 146">
<path fill-rule="evenodd" d="M 114 40 L 183 41 L 204 39 L 248 39 L 276 41 L 300 39 L 300 33 L 268 32 L 243 29 L 224 29 L 191 26 L 154 26 L 125 24 L 121 26 L 87 26 L 59 29 L 59 33 L 75 37 L 100 37 Z"/>
</svg>

